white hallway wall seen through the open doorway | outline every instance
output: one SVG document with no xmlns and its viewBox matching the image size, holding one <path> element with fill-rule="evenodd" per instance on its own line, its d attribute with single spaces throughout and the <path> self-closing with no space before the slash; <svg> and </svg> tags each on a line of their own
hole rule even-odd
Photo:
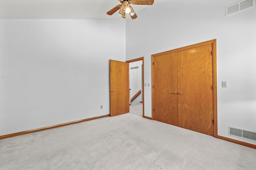
<svg viewBox="0 0 256 170">
<path fill-rule="evenodd" d="M 137 69 L 131 69 L 131 67 L 138 67 Z M 141 90 L 139 96 L 137 96 L 132 103 L 142 102 L 142 60 L 129 63 L 129 84 L 130 84 L 130 98 L 132 98 L 138 91 Z"/>
</svg>

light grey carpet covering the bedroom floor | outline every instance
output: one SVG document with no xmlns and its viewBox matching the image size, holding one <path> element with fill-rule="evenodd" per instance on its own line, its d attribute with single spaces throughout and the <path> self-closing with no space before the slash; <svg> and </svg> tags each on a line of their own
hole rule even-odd
<svg viewBox="0 0 256 170">
<path fill-rule="evenodd" d="M 138 115 L 0 140 L 0 170 L 255 170 L 256 149 Z"/>
</svg>

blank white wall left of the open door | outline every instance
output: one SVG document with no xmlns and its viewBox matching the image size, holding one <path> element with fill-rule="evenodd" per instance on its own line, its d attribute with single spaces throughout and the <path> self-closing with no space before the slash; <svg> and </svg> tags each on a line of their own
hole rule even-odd
<svg viewBox="0 0 256 170">
<path fill-rule="evenodd" d="M 0 20 L 0 135 L 109 114 L 109 59 L 125 61 L 125 24 Z"/>
</svg>

